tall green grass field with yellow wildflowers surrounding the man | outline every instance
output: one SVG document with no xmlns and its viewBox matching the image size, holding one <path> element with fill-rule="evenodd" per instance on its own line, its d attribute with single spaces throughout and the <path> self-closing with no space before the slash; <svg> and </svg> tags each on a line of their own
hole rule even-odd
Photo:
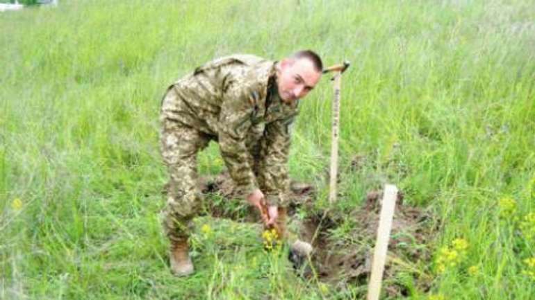
<svg viewBox="0 0 535 300">
<path fill-rule="evenodd" d="M 532 0 L 94 0 L 2 13 L 0 299 L 354 299 L 362 286 L 299 279 L 227 220 L 197 220 L 211 230 L 192 238 L 194 276 L 167 267 L 165 88 L 220 55 L 301 48 L 352 62 L 331 209 L 392 182 L 439 222 L 423 245 L 433 260 L 406 262 L 431 290 L 407 298 L 535 299 L 534 16 Z M 318 209 L 331 98 L 324 78 L 303 100 L 290 158 L 293 177 L 318 185 Z M 350 172 L 356 155 L 365 163 Z M 222 170 L 217 145 L 199 163 Z"/>
</svg>

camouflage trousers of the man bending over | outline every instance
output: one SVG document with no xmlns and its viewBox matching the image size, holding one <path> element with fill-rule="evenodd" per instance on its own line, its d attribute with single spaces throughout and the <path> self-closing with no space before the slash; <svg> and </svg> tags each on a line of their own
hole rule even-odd
<svg viewBox="0 0 535 300">
<path fill-rule="evenodd" d="M 178 241 L 188 238 L 191 220 L 199 215 L 204 201 L 197 182 L 197 152 L 217 138 L 184 125 L 165 112 L 160 119 L 160 150 L 169 173 L 163 228 L 170 240 Z M 249 166 L 256 174 L 262 134 L 262 129 L 256 127 L 247 134 L 246 145 L 252 159 Z"/>
</svg>

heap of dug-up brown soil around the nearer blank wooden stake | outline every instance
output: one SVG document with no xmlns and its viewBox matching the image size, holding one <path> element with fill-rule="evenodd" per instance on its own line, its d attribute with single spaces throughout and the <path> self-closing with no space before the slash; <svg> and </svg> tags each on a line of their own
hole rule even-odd
<svg viewBox="0 0 535 300">
<path fill-rule="evenodd" d="M 354 220 L 354 228 L 345 233 L 343 240 L 334 238 L 332 234 L 336 232 L 336 224 L 330 224 L 327 230 L 318 228 L 320 220 L 308 220 L 304 224 L 302 237 L 314 246 L 315 270 L 322 281 L 339 288 L 347 284 L 368 285 L 381 198 L 380 191 L 372 191 L 363 206 L 347 213 L 346 218 Z M 316 231 L 315 240 L 307 238 Z M 429 290 L 431 278 L 419 268 L 431 261 L 427 243 L 434 231 L 436 227 L 429 213 L 405 205 L 401 199 L 397 202 L 383 277 L 388 296 L 406 296 L 411 285 L 420 291 Z M 410 282 L 407 282 L 408 278 Z"/>
</svg>

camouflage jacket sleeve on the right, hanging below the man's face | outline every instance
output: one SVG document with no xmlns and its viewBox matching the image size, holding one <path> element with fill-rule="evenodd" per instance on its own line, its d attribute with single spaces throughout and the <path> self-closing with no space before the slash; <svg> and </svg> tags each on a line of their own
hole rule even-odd
<svg viewBox="0 0 535 300">
<path fill-rule="evenodd" d="M 287 206 L 290 179 L 288 155 L 290 152 L 289 126 L 295 116 L 268 123 L 261 143 L 261 168 L 258 181 L 269 205 Z"/>
</svg>

